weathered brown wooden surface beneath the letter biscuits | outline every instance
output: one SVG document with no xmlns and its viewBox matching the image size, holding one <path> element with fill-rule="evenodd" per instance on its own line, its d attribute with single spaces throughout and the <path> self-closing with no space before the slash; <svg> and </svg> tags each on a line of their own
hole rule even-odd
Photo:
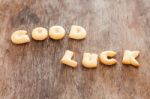
<svg viewBox="0 0 150 99">
<path fill-rule="evenodd" d="M 88 36 L 68 38 L 71 25 Z M 14 45 L 11 33 L 61 25 L 63 40 Z M 59 63 L 65 50 L 79 65 Z M 140 50 L 141 67 L 122 65 L 123 51 Z M 115 66 L 81 65 L 84 51 L 115 50 Z M 150 0 L 0 0 L 0 99 L 149 99 Z"/>
</svg>

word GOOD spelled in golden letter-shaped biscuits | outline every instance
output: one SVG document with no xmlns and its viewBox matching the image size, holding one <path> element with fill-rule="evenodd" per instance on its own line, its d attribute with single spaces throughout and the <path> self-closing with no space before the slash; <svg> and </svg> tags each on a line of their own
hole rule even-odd
<svg viewBox="0 0 150 99">
<path fill-rule="evenodd" d="M 66 31 L 62 26 L 52 26 L 49 28 L 49 31 L 46 28 L 37 27 L 32 30 L 31 34 L 34 40 L 42 41 L 47 39 L 48 36 L 51 39 L 60 40 L 64 38 Z M 69 38 L 80 40 L 80 39 L 84 39 L 85 37 L 86 37 L 86 31 L 83 27 L 72 25 L 69 33 Z M 14 44 L 23 44 L 23 43 L 28 43 L 31 40 L 26 30 L 17 30 L 14 33 L 12 33 L 11 41 Z"/>
</svg>

